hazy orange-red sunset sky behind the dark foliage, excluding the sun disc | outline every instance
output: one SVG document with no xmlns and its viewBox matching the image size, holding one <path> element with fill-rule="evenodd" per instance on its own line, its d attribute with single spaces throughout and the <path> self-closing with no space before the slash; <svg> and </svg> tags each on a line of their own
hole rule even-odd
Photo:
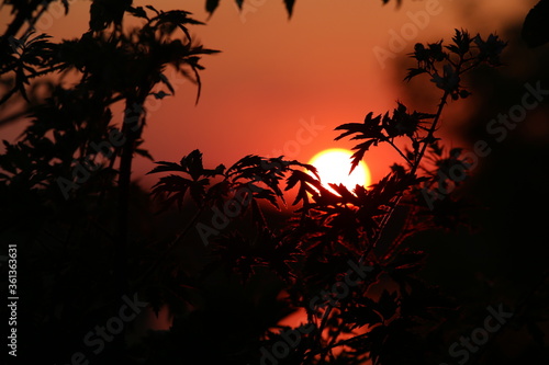
<svg viewBox="0 0 549 365">
<path fill-rule="evenodd" d="M 204 0 L 154 1 L 157 9 L 188 10 L 208 22 L 192 33 L 205 46 L 223 52 L 203 59 L 198 106 L 190 83 L 181 84 L 175 98 L 149 104 L 144 138 L 156 160 L 179 160 L 199 148 L 212 166 L 227 166 L 247 153 L 279 151 L 306 162 L 322 149 L 351 147 L 333 141 L 334 127 L 361 122 L 370 111 L 392 110 L 397 99 L 406 101 L 400 92 L 403 85 L 395 82 L 405 70 L 395 70 L 391 59 L 381 65 L 373 52 L 391 52 L 392 32 L 411 32 L 404 49 L 393 53 L 402 57 L 416 42 L 449 38 L 456 27 L 473 34 L 502 33 L 504 24 L 523 19 L 536 0 L 404 0 L 397 10 L 394 3 L 383 7 L 381 0 L 298 0 L 290 21 L 281 0 L 245 2 L 248 8 L 239 13 L 233 0 L 223 0 L 208 20 Z M 57 37 L 79 36 L 87 31 L 88 10 L 89 1 L 72 1 L 68 18 L 52 11 L 38 26 Z M 414 25 L 410 14 L 427 10 L 435 14 Z M 2 25 L 5 15 L 3 9 Z M 13 141 L 23 127 L 0 129 L 0 139 Z M 397 160 L 384 148 L 366 157 L 374 181 Z M 152 162 L 138 159 L 134 178 L 152 168 Z M 155 179 L 147 176 L 145 185 Z"/>
</svg>

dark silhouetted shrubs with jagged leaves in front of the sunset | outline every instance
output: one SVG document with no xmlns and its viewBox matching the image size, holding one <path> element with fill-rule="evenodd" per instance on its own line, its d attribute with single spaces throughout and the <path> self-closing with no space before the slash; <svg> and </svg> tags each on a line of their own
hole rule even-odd
<svg viewBox="0 0 549 365">
<path fill-rule="evenodd" d="M 206 1 L 208 10 L 217 3 Z M 294 1 L 284 3 L 291 14 Z M 149 173 L 163 175 L 153 202 L 131 182 L 133 158 L 152 159 L 139 147 L 145 100 L 175 93 L 166 67 L 193 81 L 200 96 L 200 59 L 216 53 L 190 36 L 188 26 L 201 23 L 184 11 L 93 1 L 90 31 L 79 39 L 15 37 L 37 7 L 14 5 L 1 38 L 0 75 L 11 78 L 1 103 L 21 94 L 32 117 L 0 156 L 2 241 L 19 244 L 25 298 L 20 358 L 65 364 L 80 353 L 99 364 L 382 365 L 448 358 L 446 340 L 460 334 L 444 323 L 458 305 L 421 278 L 428 256 L 403 242 L 466 224 L 467 202 L 452 191 L 471 161 L 441 146 L 437 130 L 446 105 L 470 94 L 463 76 L 500 66 L 504 42 L 456 30 L 448 43 L 416 44 L 416 67 L 404 79 L 428 77 L 440 90 L 438 105 L 417 112 L 397 102 L 336 127 L 336 140 L 359 141 L 352 168 L 380 144 L 402 158 L 372 186 L 332 184 L 334 194 L 300 161 L 248 155 L 228 168 L 204 168 L 193 150 L 179 162 L 155 162 Z M 142 25 L 125 30 L 124 15 Z M 38 76 L 69 71 L 78 72 L 78 84 L 54 83 L 36 102 L 29 85 Z M 125 110 L 120 128 L 116 103 Z M 290 190 L 295 212 L 281 221 L 266 206 L 285 205 Z M 101 334 L 98 327 L 109 331 L 128 300 L 139 312 L 136 298 L 157 315 L 169 308 L 170 330 L 132 341 L 139 328 L 128 320 L 119 333 Z M 296 310 L 304 313 L 300 326 L 278 324 Z M 537 321 L 526 322 L 542 342 Z M 474 355 L 482 360 L 482 352 Z"/>
</svg>

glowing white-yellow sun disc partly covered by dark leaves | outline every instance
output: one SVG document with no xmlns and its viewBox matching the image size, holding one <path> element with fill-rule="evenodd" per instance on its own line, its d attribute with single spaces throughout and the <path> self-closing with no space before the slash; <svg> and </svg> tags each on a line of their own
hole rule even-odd
<svg viewBox="0 0 549 365">
<path fill-rule="evenodd" d="M 309 163 L 318 170 L 323 185 L 332 192 L 334 190 L 328 183 L 344 184 L 349 191 L 357 184 L 368 187 L 371 184 L 371 175 L 363 161 L 360 161 L 349 175 L 351 156 L 352 152 L 347 149 L 330 148 L 316 153 Z"/>
</svg>

